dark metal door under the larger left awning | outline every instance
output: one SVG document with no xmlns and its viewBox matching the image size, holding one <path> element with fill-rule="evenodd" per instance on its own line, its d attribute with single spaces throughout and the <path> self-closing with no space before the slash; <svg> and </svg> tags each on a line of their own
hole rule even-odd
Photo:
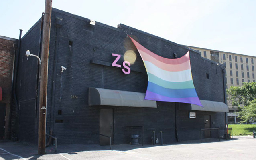
<svg viewBox="0 0 256 160">
<path fill-rule="evenodd" d="M 113 109 L 100 109 L 100 134 L 113 140 Z M 100 145 L 110 145 L 110 138 L 100 136 Z"/>
</svg>

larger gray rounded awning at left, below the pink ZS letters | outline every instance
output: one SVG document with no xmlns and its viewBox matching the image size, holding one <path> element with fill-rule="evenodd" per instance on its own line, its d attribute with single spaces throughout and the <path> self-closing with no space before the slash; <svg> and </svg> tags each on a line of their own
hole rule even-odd
<svg viewBox="0 0 256 160">
<path fill-rule="evenodd" d="M 145 93 L 89 88 L 89 106 L 157 107 L 156 101 L 144 98 Z"/>
</svg>

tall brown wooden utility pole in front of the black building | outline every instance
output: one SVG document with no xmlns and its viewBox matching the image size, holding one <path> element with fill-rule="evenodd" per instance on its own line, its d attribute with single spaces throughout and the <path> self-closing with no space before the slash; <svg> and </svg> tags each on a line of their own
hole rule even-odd
<svg viewBox="0 0 256 160">
<path fill-rule="evenodd" d="M 46 130 L 46 101 L 47 101 L 47 77 L 48 56 L 51 28 L 51 4 L 52 0 L 45 0 L 45 15 L 43 22 L 43 41 L 41 52 L 40 94 L 39 94 L 39 125 L 38 125 L 38 154 L 45 154 L 45 130 Z"/>
</svg>

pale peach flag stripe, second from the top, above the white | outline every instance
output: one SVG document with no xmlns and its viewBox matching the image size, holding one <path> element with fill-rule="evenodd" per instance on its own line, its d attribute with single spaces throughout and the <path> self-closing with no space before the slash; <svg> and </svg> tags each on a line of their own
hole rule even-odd
<svg viewBox="0 0 256 160">
<path fill-rule="evenodd" d="M 139 52 L 142 55 L 144 62 L 148 61 L 163 70 L 170 71 L 170 72 L 190 70 L 189 60 L 187 60 L 186 62 L 181 63 L 181 64 L 167 64 L 167 63 L 163 63 L 159 60 L 156 60 L 154 57 L 150 56 L 149 54 L 146 54 L 145 52 L 143 52 L 141 50 Z"/>
</svg>

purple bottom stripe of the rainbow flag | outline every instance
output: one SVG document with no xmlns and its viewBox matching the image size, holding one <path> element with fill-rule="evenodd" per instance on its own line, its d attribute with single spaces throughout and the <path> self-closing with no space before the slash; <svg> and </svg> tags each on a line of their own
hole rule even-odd
<svg viewBox="0 0 256 160">
<path fill-rule="evenodd" d="M 198 106 L 202 106 L 198 97 L 186 97 L 186 98 L 171 98 L 162 96 L 160 94 L 156 94 L 150 91 L 146 91 L 145 100 L 157 100 L 157 101 L 165 101 L 165 102 L 181 102 L 181 103 L 191 103 Z"/>
</svg>

